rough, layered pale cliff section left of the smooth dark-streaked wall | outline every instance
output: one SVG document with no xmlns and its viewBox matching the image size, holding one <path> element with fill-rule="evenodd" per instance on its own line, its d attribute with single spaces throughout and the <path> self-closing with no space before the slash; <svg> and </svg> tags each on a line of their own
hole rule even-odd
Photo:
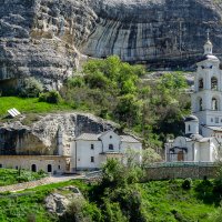
<svg viewBox="0 0 222 222">
<path fill-rule="evenodd" d="M 1 88 L 34 75 L 58 89 L 73 74 L 94 26 L 94 12 L 82 0 L 1 0 Z"/>
</svg>

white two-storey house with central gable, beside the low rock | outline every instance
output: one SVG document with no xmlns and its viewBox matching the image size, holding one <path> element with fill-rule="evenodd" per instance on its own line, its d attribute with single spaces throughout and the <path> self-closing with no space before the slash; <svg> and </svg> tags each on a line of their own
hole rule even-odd
<svg viewBox="0 0 222 222">
<path fill-rule="evenodd" d="M 128 149 L 139 153 L 141 161 L 142 143 L 131 135 L 118 135 L 112 130 L 83 133 L 71 143 L 71 170 L 99 169 L 109 158 L 123 159 Z"/>
</svg>

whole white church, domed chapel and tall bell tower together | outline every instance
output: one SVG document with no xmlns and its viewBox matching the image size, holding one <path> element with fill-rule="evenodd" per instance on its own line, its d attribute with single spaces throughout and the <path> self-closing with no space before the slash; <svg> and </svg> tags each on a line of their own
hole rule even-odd
<svg viewBox="0 0 222 222">
<path fill-rule="evenodd" d="M 185 135 L 165 143 L 167 162 L 215 162 L 222 142 L 222 70 L 208 34 L 194 77 Z"/>
</svg>

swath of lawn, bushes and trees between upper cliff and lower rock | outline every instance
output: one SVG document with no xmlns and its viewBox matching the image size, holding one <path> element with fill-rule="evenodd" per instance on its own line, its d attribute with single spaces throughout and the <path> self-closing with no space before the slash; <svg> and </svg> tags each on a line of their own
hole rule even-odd
<svg viewBox="0 0 222 222">
<path fill-rule="evenodd" d="M 62 98 L 56 91 L 41 93 L 31 79 L 18 92 L 27 99 L 0 98 L 0 115 L 13 107 L 24 113 L 88 111 L 132 129 L 151 147 L 160 148 L 160 141 L 183 131 L 182 117 L 190 112 L 190 98 L 184 94 L 188 85 L 181 72 L 167 73 L 158 81 L 142 79 L 144 73 L 143 67 L 121 62 L 115 56 L 90 60 L 80 75 L 67 80 L 60 90 Z M 33 91 L 39 99 L 29 98 Z"/>
</svg>

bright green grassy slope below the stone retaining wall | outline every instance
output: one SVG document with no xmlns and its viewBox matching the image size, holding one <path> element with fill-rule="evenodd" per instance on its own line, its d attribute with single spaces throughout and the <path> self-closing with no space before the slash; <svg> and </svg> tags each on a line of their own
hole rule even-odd
<svg viewBox="0 0 222 222">
<path fill-rule="evenodd" d="M 199 199 L 195 188 L 201 181 L 194 181 L 190 191 L 181 188 L 182 180 L 169 183 L 169 181 L 155 181 L 140 184 L 145 210 L 153 222 L 184 221 L 210 222 L 210 214 L 215 211 L 213 201 L 211 204 Z"/>
</svg>

